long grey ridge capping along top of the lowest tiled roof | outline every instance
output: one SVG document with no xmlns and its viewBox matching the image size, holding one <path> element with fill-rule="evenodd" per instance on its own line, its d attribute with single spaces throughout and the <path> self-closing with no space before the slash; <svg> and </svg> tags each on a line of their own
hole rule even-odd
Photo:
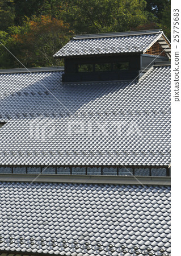
<svg viewBox="0 0 181 256">
<path fill-rule="evenodd" d="M 0 181 L 55 182 L 83 184 L 131 184 L 131 185 L 170 185 L 166 176 L 112 176 L 112 175 L 58 175 L 58 174 L 0 174 Z"/>
</svg>

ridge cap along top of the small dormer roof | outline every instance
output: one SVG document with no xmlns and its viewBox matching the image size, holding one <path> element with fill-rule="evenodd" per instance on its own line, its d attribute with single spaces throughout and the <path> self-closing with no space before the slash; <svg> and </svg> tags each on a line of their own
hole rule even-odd
<svg viewBox="0 0 181 256">
<path fill-rule="evenodd" d="M 89 39 L 89 38 L 112 38 L 115 36 L 132 36 L 132 35 L 146 35 L 146 34 L 158 34 L 161 32 L 158 30 L 137 30 L 137 31 L 125 31 L 125 32 L 112 32 L 112 33 L 102 33 L 102 34 L 85 34 L 85 35 L 75 35 L 73 39 Z"/>
</svg>

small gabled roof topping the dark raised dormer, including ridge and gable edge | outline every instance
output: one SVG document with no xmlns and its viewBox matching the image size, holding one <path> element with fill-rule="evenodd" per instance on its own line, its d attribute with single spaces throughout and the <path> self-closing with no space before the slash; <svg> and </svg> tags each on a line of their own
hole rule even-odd
<svg viewBox="0 0 181 256">
<path fill-rule="evenodd" d="M 170 57 L 170 42 L 161 30 L 77 35 L 54 57 L 105 55 L 113 53 L 145 53 L 155 42 Z"/>
</svg>

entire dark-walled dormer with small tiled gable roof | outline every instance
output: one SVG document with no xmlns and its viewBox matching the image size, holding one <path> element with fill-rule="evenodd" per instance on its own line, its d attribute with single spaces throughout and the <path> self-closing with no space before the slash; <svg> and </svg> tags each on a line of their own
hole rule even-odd
<svg viewBox="0 0 181 256">
<path fill-rule="evenodd" d="M 63 82 L 132 80 L 170 59 L 161 30 L 76 35 L 54 57 L 64 58 Z"/>
</svg>

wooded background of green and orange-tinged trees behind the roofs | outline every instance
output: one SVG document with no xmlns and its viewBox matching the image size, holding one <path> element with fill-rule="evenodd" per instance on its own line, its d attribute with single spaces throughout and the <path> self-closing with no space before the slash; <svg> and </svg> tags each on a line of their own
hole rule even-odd
<svg viewBox="0 0 181 256">
<path fill-rule="evenodd" d="M 0 42 L 29 67 L 64 65 L 52 55 L 75 34 L 161 28 L 170 0 L 0 0 Z M 0 68 L 22 65 L 0 44 Z"/>
</svg>

